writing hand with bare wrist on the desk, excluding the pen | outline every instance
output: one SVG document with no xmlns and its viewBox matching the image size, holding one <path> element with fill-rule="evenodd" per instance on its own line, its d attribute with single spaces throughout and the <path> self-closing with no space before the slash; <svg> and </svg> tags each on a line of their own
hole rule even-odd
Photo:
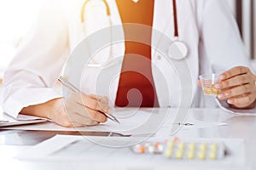
<svg viewBox="0 0 256 170">
<path fill-rule="evenodd" d="M 20 113 L 46 117 L 63 127 L 83 127 L 106 122 L 107 117 L 101 112 L 112 112 L 107 97 L 73 93 L 67 99 L 28 106 Z"/>
</svg>

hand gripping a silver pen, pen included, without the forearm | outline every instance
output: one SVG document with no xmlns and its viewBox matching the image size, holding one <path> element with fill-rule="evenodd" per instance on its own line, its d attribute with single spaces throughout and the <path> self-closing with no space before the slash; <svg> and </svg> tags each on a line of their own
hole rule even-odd
<svg viewBox="0 0 256 170">
<path fill-rule="evenodd" d="M 75 113 L 77 114 L 76 117 L 79 115 L 79 117 L 86 122 L 85 125 L 96 125 L 99 122 L 106 122 L 107 118 L 113 122 L 119 123 L 113 115 L 110 115 L 112 109 L 108 105 L 107 97 L 82 94 L 79 92 L 78 88 L 73 86 L 72 83 L 67 82 L 63 77 L 60 77 L 58 80 L 65 87 L 73 91 L 73 93 L 65 99 L 65 107 L 68 114 L 73 115 Z"/>
</svg>

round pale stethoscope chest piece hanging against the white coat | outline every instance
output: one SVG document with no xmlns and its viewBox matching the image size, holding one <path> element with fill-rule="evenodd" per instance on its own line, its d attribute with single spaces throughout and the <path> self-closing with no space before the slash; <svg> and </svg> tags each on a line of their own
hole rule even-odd
<svg viewBox="0 0 256 170">
<path fill-rule="evenodd" d="M 171 59 L 185 59 L 189 53 L 189 49 L 184 42 L 174 41 L 168 48 L 168 56 Z"/>
</svg>

